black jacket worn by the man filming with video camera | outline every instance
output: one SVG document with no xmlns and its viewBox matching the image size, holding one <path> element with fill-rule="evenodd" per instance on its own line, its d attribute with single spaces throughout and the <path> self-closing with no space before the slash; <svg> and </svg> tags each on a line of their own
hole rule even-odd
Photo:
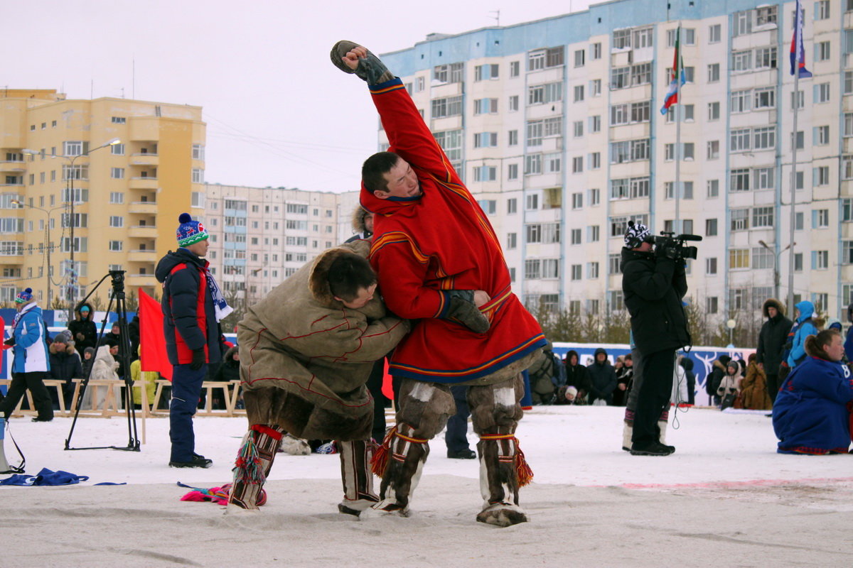
<svg viewBox="0 0 853 568">
<path fill-rule="evenodd" d="M 690 345 L 682 298 L 688 280 L 681 262 L 653 253 L 622 249 L 622 291 L 640 353 Z"/>
</svg>

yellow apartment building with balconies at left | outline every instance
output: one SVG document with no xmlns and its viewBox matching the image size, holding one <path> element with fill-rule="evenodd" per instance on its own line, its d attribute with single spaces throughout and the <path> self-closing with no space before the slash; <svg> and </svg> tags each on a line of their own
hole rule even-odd
<svg viewBox="0 0 853 568">
<path fill-rule="evenodd" d="M 0 89 L 0 302 L 79 300 L 110 270 L 153 294 L 178 215 L 201 212 L 205 132 L 199 106 Z"/>
</svg>

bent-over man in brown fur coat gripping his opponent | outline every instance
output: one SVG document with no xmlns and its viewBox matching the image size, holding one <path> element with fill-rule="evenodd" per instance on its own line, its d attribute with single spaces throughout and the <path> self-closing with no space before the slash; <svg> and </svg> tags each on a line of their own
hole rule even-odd
<svg viewBox="0 0 853 568">
<path fill-rule="evenodd" d="M 235 467 L 229 508 L 258 508 L 284 433 L 334 439 L 344 500 L 357 515 L 378 501 L 369 469 L 374 361 L 409 323 L 386 313 L 368 263 L 368 241 L 329 249 L 249 308 L 237 324 L 249 431 Z"/>
</svg>

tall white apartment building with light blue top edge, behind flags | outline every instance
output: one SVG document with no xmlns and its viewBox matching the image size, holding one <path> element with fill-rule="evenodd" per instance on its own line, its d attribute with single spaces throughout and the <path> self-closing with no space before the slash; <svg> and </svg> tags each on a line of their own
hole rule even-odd
<svg viewBox="0 0 853 568">
<path fill-rule="evenodd" d="M 795 301 L 846 317 L 853 0 L 803 6 L 814 77 L 797 95 L 793 2 L 613 0 L 382 58 L 490 216 L 529 306 L 623 309 L 619 253 L 635 220 L 704 238 L 688 284 L 711 316 L 754 317 L 776 278 L 784 301 L 792 268 Z M 676 37 L 686 83 L 662 114 Z"/>
</svg>

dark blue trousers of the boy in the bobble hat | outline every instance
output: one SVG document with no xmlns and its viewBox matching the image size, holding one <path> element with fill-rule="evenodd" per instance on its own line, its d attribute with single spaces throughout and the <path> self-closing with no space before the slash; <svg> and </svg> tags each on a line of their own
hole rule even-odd
<svg viewBox="0 0 853 568">
<path fill-rule="evenodd" d="M 193 416 L 201 398 L 201 383 L 207 374 L 207 365 L 192 370 L 189 364 L 172 366 L 171 405 L 169 406 L 169 438 L 171 462 L 192 462 L 195 451 Z"/>
</svg>

